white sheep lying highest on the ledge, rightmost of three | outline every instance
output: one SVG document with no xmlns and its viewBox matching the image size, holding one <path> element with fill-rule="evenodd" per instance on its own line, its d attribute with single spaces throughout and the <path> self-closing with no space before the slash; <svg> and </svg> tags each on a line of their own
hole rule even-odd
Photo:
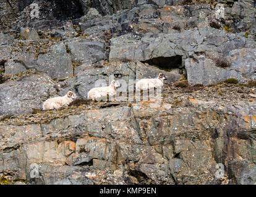
<svg viewBox="0 0 256 197">
<path fill-rule="evenodd" d="M 167 77 L 163 73 L 160 73 L 156 79 L 140 79 L 135 87 L 136 90 L 158 89 L 163 87 L 164 79 L 167 79 Z"/>
</svg>

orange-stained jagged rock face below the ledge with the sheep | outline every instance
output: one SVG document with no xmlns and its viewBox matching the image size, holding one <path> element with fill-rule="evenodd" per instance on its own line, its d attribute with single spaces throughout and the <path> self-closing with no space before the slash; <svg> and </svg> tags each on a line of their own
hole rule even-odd
<svg viewBox="0 0 256 197">
<path fill-rule="evenodd" d="M 187 98 L 181 106 L 141 102 L 0 126 L 0 174 L 46 184 L 210 184 L 223 163 L 230 183 L 254 183 L 256 103 Z"/>
</svg>

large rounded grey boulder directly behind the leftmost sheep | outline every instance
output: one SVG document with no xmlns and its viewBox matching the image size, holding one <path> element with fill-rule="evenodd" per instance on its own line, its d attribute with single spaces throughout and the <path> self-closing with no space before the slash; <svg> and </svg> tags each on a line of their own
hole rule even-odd
<svg viewBox="0 0 256 197">
<path fill-rule="evenodd" d="M 56 94 L 54 82 L 46 75 L 31 75 L 20 81 L 0 84 L 0 115 L 24 115 L 41 108 L 49 95 Z"/>
</svg>

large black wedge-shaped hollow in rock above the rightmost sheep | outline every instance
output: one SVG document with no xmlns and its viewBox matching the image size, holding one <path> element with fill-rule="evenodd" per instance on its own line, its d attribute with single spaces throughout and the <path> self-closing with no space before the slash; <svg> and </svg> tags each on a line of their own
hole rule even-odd
<svg viewBox="0 0 256 197">
<path fill-rule="evenodd" d="M 173 57 L 154 57 L 150 60 L 142 61 L 151 66 L 156 66 L 161 70 L 171 71 L 173 68 L 182 68 L 182 56 L 176 55 Z"/>
</svg>

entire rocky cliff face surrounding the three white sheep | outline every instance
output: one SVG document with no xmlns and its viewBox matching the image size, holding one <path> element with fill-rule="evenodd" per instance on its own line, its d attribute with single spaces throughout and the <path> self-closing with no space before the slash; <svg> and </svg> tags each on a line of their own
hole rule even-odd
<svg viewBox="0 0 256 197">
<path fill-rule="evenodd" d="M 255 14 L 254 0 L 0 0 L 0 185 L 255 184 Z M 159 73 L 162 100 L 87 100 L 98 79 Z"/>
</svg>

